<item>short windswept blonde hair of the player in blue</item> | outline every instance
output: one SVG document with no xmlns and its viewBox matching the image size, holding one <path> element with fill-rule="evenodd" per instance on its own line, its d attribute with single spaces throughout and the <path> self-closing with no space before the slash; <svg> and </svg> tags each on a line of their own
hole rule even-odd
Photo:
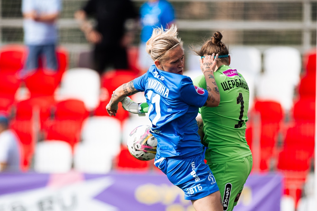
<svg viewBox="0 0 317 211">
<path fill-rule="evenodd" d="M 183 41 L 177 35 L 176 25 L 171 25 L 168 29 L 154 28 L 151 38 L 146 42 L 146 53 L 150 54 L 153 61 L 165 60 L 166 52 L 178 45 L 183 47 Z"/>
</svg>

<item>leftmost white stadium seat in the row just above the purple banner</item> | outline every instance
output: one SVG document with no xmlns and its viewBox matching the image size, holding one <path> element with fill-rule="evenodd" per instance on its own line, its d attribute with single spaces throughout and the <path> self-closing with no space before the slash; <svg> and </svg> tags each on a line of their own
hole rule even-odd
<svg viewBox="0 0 317 211">
<path fill-rule="evenodd" d="M 34 170 L 38 173 L 67 173 L 72 169 L 71 146 L 61 140 L 44 140 L 36 144 Z"/>
</svg>

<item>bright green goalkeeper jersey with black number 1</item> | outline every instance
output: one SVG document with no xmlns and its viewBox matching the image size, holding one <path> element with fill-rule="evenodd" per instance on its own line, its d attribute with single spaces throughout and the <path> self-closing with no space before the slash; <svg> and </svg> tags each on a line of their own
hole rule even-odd
<svg viewBox="0 0 317 211">
<path fill-rule="evenodd" d="M 217 107 L 202 107 L 204 143 L 208 145 L 208 163 L 222 163 L 251 155 L 245 139 L 248 121 L 249 87 L 243 76 L 227 65 L 220 66 L 214 77 L 220 92 Z M 195 86 L 206 87 L 204 75 L 193 80 Z"/>
</svg>

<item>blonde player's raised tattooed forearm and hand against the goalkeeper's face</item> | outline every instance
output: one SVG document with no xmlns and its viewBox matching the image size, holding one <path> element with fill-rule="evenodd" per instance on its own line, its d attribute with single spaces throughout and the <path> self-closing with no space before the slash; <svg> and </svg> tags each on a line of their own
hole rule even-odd
<svg viewBox="0 0 317 211">
<path fill-rule="evenodd" d="M 214 77 L 214 71 L 216 69 L 216 63 L 218 59 L 218 54 L 214 59 L 214 53 L 212 55 L 206 56 L 204 59 L 199 59 L 200 68 L 204 73 L 204 77 L 207 84 L 208 97 L 204 104 L 207 107 L 217 107 L 220 102 L 220 94 L 217 83 Z"/>
</svg>

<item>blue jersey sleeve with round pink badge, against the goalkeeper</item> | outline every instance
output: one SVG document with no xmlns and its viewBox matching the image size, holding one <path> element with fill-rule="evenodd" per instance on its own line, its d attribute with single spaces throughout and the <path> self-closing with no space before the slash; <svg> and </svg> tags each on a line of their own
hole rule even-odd
<svg viewBox="0 0 317 211">
<path fill-rule="evenodd" d="M 180 85 L 180 96 L 182 101 L 200 108 L 204 106 L 208 92 L 203 88 L 194 86 L 191 78 L 185 77 Z"/>
</svg>

